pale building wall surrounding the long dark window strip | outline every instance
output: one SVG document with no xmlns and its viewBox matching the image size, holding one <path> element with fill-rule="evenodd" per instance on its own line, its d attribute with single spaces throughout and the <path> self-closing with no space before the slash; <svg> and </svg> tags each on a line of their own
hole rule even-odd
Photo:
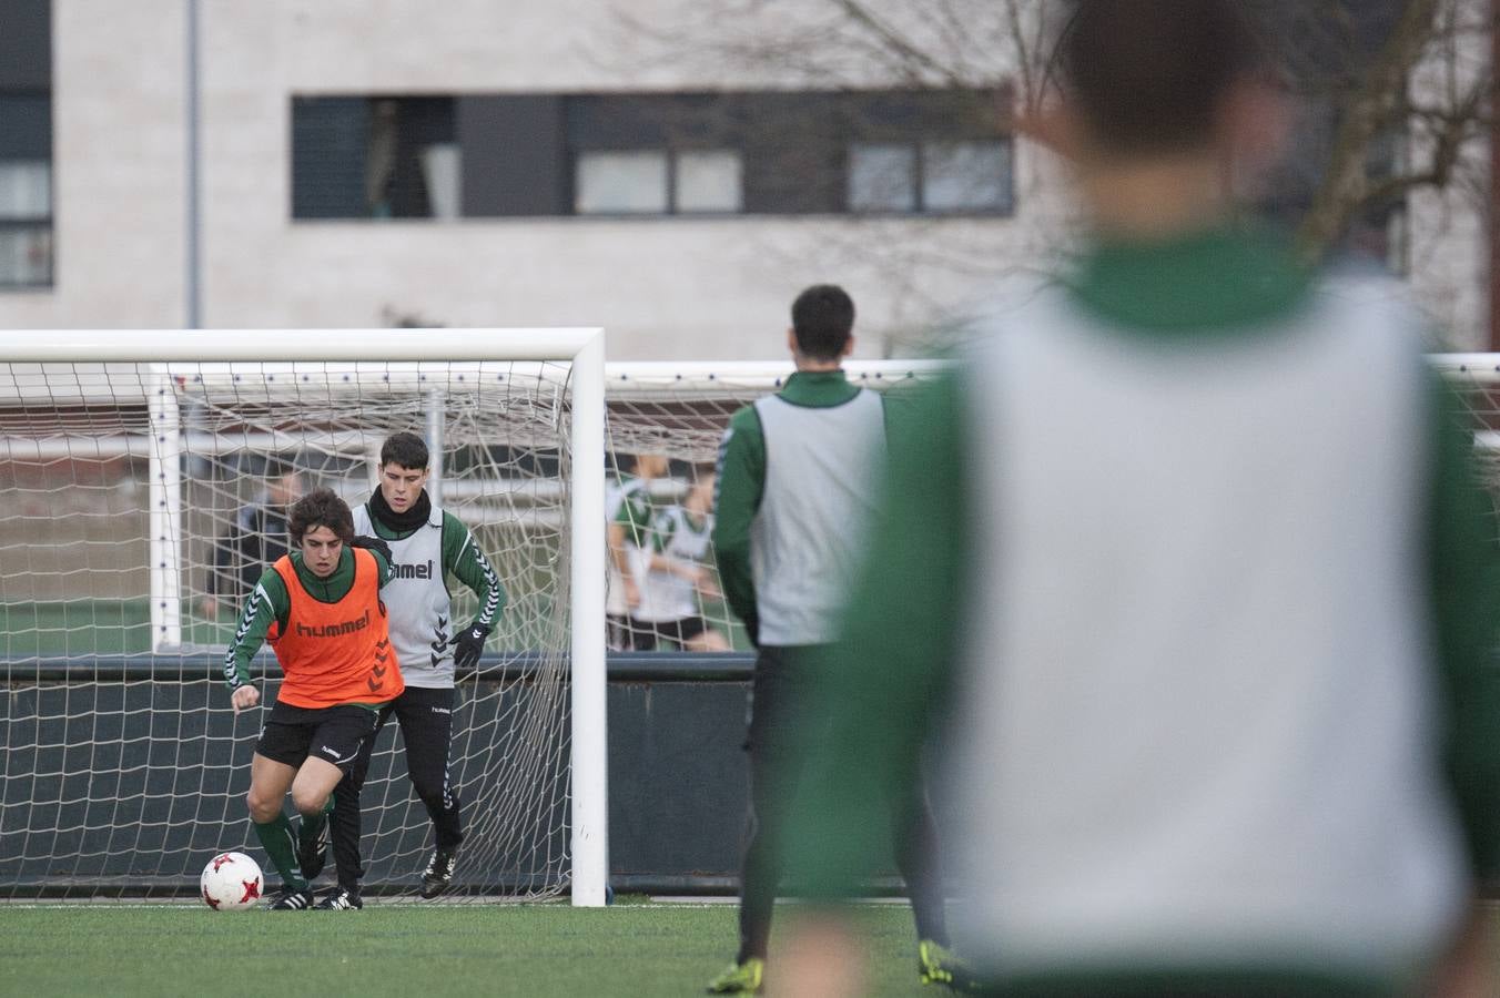
<svg viewBox="0 0 1500 998">
<path fill-rule="evenodd" d="M 183 7 L 56 0 L 57 286 L 0 297 L 0 325 L 183 322 Z M 645 21 L 674 9 L 630 4 Z M 616 360 L 764 358 L 795 292 L 836 280 L 874 357 L 1041 259 L 1024 145 L 1014 219 L 291 222 L 292 94 L 768 82 L 646 63 L 638 40 L 592 0 L 202 0 L 204 325 L 598 324 Z"/>
</svg>

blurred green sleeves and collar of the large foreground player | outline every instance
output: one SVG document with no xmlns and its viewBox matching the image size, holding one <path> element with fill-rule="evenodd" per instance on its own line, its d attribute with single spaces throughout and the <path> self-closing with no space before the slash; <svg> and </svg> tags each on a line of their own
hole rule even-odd
<svg viewBox="0 0 1500 998">
<path fill-rule="evenodd" d="M 1191 357 L 1196 337 L 1204 342 L 1200 331 L 1221 345 L 1239 339 L 1246 351 L 1256 343 L 1280 349 L 1284 342 L 1276 339 L 1278 330 L 1287 328 L 1281 321 L 1305 315 L 1299 309 L 1306 301 L 1306 285 L 1278 261 L 1280 256 L 1264 247 L 1224 237 L 1155 247 L 1100 249 L 1086 261 L 1070 298 L 1077 315 L 1104 319 L 1108 336 L 1118 340 L 1106 339 L 1095 331 L 1098 327 L 1089 327 L 1080 349 L 1100 351 L 1101 355 L 1107 351 L 1120 372 L 1134 363 L 1136 354 L 1154 363 L 1180 348 L 1186 351 L 1180 357 Z M 1161 307 L 1154 310 L 1154 304 Z M 1244 360 L 1252 363 L 1252 354 L 1246 352 Z M 1360 372 L 1350 370 L 1348 376 L 1359 378 Z M 1060 378 L 1053 384 L 1062 391 L 1072 382 Z M 926 388 L 915 400 L 904 430 L 891 433 L 880 526 L 868 539 L 866 566 L 843 628 L 846 637 L 820 662 L 818 703 L 822 709 L 813 713 L 831 718 L 831 727 L 828 736 L 818 742 L 820 751 L 804 760 L 808 778 L 792 808 L 792 827 L 784 836 L 789 868 L 820 893 L 856 890 L 861 878 L 885 859 L 880 854 L 880 830 L 886 802 L 903 799 L 936 719 L 952 719 L 950 709 L 958 704 L 950 703 L 950 694 L 957 692 L 960 685 L 972 694 L 975 677 L 969 673 L 960 676 L 956 671 L 960 662 L 976 671 L 1016 673 L 1022 676 L 1016 682 L 1030 692 L 1038 689 L 1038 682 L 1044 683 L 1041 689 L 1050 689 L 1046 686 L 1047 662 L 996 661 L 993 653 L 986 655 L 970 643 L 982 631 L 980 622 L 993 622 L 1022 604 L 1022 593 L 1014 589 L 975 590 L 975 580 L 988 566 L 974 559 L 978 550 L 984 550 L 986 535 L 996 529 L 1000 518 L 1000 511 L 990 503 L 1005 502 L 1002 480 L 984 478 L 981 486 L 981 478 L 992 474 L 984 471 L 987 454 L 996 444 L 1010 445 L 1011 433 L 1022 429 L 992 424 L 981 415 L 987 412 L 986 393 L 993 391 L 996 385 L 970 381 L 964 370 L 951 373 Z M 1330 391 L 1329 397 L 1332 403 L 1336 394 Z M 1418 415 L 1430 439 L 1424 453 L 1431 460 L 1425 471 L 1416 472 L 1419 492 L 1412 496 L 1419 503 L 1413 509 L 1413 524 L 1420 527 L 1425 523 L 1425 530 L 1414 538 L 1419 547 L 1412 559 L 1413 571 L 1419 572 L 1413 578 L 1420 593 L 1419 611 L 1425 604 L 1416 632 L 1430 628 L 1432 638 L 1432 667 L 1420 679 L 1431 682 L 1438 694 L 1432 748 L 1443 767 L 1442 793 L 1456 811 L 1470 868 L 1476 877 L 1494 880 L 1500 877 L 1500 808 L 1496 806 L 1500 788 L 1500 670 L 1492 661 L 1496 607 L 1500 607 L 1496 527 L 1490 499 L 1476 475 L 1473 427 L 1462 406 L 1452 391 L 1436 385 L 1428 400 L 1425 415 Z M 1179 414 L 1182 420 L 1192 415 Z M 1254 418 L 1256 411 L 1246 409 L 1245 420 Z M 1113 429 L 1098 426 L 1101 435 Z M 1035 468 L 1035 474 L 1068 475 L 1076 468 L 1088 466 L 1092 460 L 1089 444 L 1076 438 L 1056 441 L 1060 448 L 1056 462 Z M 1348 445 L 1359 444 L 1350 439 Z M 986 496 L 982 503 L 981 496 Z M 1100 492 L 1094 515 L 1108 517 L 1113 500 L 1107 490 Z M 1233 523 L 1224 524 L 1228 536 L 1233 536 Z M 1401 530 L 1402 524 L 1392 523 L 1390 529 Z M 1230 541 L 1228 548 L 1233 547 Z M 1180 548 L 1166 545 L 1162 550 L 1161 557 L 1172 557 Z M 1244 554 L 1252 560 L 1256 551 L 1250 548 Z M 1096 553 L 1096 557 L 1107 556 L 1106 551 Z M 1078 592 L 1095 593 L 1084 578 L 1113 568 L 1107 562 L 1077 565 Z M 1134 584 L 1148 584 L 1149 569 L 1143 565 L 1142 578 Z M 1197 596 L 1184 595 L 1188 599 Z M 1347 604 L 1340 605 L 1342 596 L 1326 593 L 1329 613 L 1348 610 Z M 1120 592 L 1120 602 L 1128 601 L 1130 593 Z M 1107 614 L 1110 607 L 1102 610 Z M 1104 620 L 1112 628 L 1130 626 L 1128 620 L 1122 623 L 1107 616 Z M 1202 623 L 1214 626 L 1212 619 Z M 1268 620 L 1268 626 L 1275 626 L 1275 622 Z M 1168 635 L 1167 644 L 1173 643 Z M 1314 649 L 1312 658 L 1317 653 Z M 1272 668 L 1266 682 L 1274 682 L 1275 662 L 1268 665 Z M 1101 662 L 1100 668 L 1100 688 L 1119 688 L 1119 677 L 1104 671 L 1107 664 Z M 1365 691 L 1348 689 L 1347 694 L 1359 698 Z M 1086 697 L 1088 691 L 1076 695 Z M 960 712 L 974 724 L 982 721 L 968 710 Z M 952 734 L 951 728 L 945 728 L 945 734 Z M 1156 737 L 1170 745 L 1173 731 L 1161 728 Z M 1018 751 L 1035 754 L 1038 760 L 1054 758 L 1048 749 L 1042 737 Z M 1059 766 L 1074 761 L 1078 760 L 1062 758 Z M 1068 772 L 1065 766 L 1056 772 L 1059 782 L 1050 793 L 1062 797 L 1071 793 Z M 1160 773 L 1140 776 L 1156 779 Z M 1224 778 L 1230 776 L 1233 770 Z M 1368 779 L 1356 773 L 1348 778 Z M 998 775 L 969 772 L 964 779 L 972 784 L 998 779 Z M 1288 773 L 1281 791 L 1294 785 L 1296 776 Z M 1126 797 L 1130 791 L 1130 787 L 1120 787 Z M 981 788 L 976 793 L 987 791 Z M 1268 790 L 1262 787 L 1260 793 Z M 1260 803 L 1258 797 L 1246 800 Z M 1324 805 L 1328 802 L 1305 802 L 1306 808 Z M 1108 818 L 1102 814 L 1100 818 L 1104 823 L 1101 827 L 1107 829 Z M 1024 826 L 1023 820 L 1018 823 Z M 1072 836 L 1077 830 L 1059 827 L 1056 832 Z M 1100 836 L 1083 838 L 1094 841 L 1095 847 L 1100 841 L 1108 842 L 1107 830 L 1101 830 Z M 1246 848 L 1263 845 L 1245 844 Z M 1128 871 L 1131 856 L 1119 854 L 1118 859 L 1120 869 Z M 1004 961 L 1005 940 L 994 943 Z M 1058 940 L 1058 944 L 1060 947 L 1064 941 Z M 1089 956 L 1080 952 L 1074 967 L 1094 974 L 1083 983 L 1098 988 L 1102 980 L 1106 991 L 1110 980 L 1122 980 L 1110 979 L 1113 971 L 1161 970 L 1119 968 L 1108 962 L 1089 967 Z M 1214 970 L 1212 955 L 1208 959 L 1208 970 Z M 1230 965 L 1227 970 L 1244 967 Z M 1317 968 L 1311 971 L 1316 976 Z M 1058 979 L 1032 983 L 1056 986 Z"/>
</svg>

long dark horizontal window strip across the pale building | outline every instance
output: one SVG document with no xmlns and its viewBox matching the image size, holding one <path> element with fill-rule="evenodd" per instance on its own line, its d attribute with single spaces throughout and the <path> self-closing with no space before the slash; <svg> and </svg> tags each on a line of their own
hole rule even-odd
<svg viewBox="0 0 1500 998">
<path fill-rule="evenodd" d="M 294 219 L 1014 210 L 1000 90 L 291 100 Z"/>
</svg>

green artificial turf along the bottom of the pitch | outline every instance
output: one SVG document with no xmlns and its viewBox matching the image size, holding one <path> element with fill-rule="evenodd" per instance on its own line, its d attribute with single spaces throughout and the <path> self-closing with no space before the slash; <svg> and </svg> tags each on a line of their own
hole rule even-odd
<svg viewBox="0 0 1500 998">
<path fill-rule="evenodd" d="M 0 995 L 693 995 L 734 956 L 735 919 L 732 904 L 0 905 Z M 867 994 L 939 994 L 916 980 L 908 907 L 860 920 Z"/>
</svg>

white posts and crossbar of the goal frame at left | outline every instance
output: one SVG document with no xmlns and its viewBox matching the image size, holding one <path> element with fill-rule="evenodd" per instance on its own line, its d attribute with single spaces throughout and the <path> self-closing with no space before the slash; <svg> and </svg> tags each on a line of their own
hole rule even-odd
<svg viewBox="0 0 1500 998">
<path fill-rule="evenodd" d="M 15 391 L 50 402 L 42 369 L 27 378 L 24 364 L 150 364 L 152 427 L 150 571 L 153 644 L 180 643 L 182 578 L 176 550 L 180 532 L 182 453 L 177 397 L 171 381 L 178 364 L 212 372 L 224 364 L 255 364 L 297 378 L 300 364 L 344 363 L 360 378 L 363 364 L 381 379 L 422 379 L 423 364 L 446 361 L 564 361 L 570 366 L 570 490 L 578 509 L 604 508 L 604 333 L 600 328 L 512 330 L 166 330 L 148 337 L 120 330 L 0 331 L 0 363 L 12 366 Z M 208 367 L 206 367 L 206 364 Z M 392 364 L 394 367 L 392 367 Z M 309 375 L 310 376 L 310 375 Z M 345 381 L 350 378 L 345 373 Z M 105 378 L 99 375 L 100 384 Z M 86 399 L 80 399 L 86 402 Z M 606 673 L 604 673 L 604 521 L 574 515 L 568 524 L 570 614 L 570 782 L 572 899 L 600 907 L 609 878 Z"/>
</svg>

